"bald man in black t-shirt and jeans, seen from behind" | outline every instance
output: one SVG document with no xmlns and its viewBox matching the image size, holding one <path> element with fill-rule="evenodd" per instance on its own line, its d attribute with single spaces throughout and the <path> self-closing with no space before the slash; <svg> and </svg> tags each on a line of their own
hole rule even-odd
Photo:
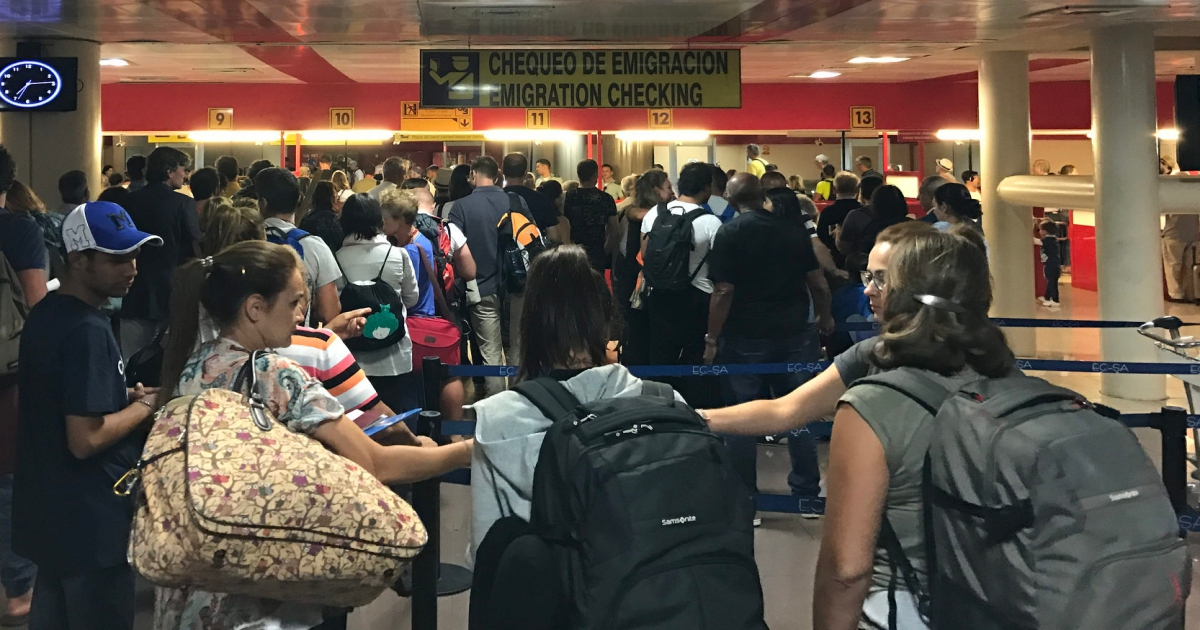
<svg viewBox="0 0 1200 630">
<path fill-rule="evenodd" d="M 748 173 L 733 176 L 730 203 L 739 215 L 721 227 L 709 256 L 713 280 L 704 361 L 724 364 L 809 364 L 821 359 L 820 332 L 833 331 L 829 287 L 800 217 L 763 210 L 763 191 Z M 809 324 L 809 295 L 818 330 Z M 727 404 L 782 397 L 812 372 L 722 377 Z M 757 488 L 756 445 L 750 437 L 727 436 L 733 466 L 751 491 Z M 821 491 L 816 442 L 806 431 L 788 437 L 792 472 L 787 484 L 798 497 Z"/>
</svg>

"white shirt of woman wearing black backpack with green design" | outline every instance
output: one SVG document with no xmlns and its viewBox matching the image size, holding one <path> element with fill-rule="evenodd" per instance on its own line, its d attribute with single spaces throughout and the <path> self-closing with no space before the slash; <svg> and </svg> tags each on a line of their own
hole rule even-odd
<svg viewBox="0 0 1200 630">
<path fill-rule="evenodd" d="M 384 259 L 386 258 L 386 263 Z M 400 293 L 404 304 L 404 316 L 416 305 L 421 294 L 416 288 L 416 270 L 413 259 L 403 247 L 392 247 L 388 238 L 378 235 L 371 240 L 347 236 L 342 248 L 337 251 L 337 260 L 342 263 L 346 278 L 337 283 L 338 290 L 347 282 L 370 282 L 379 276 L 383 268 L 383 280 Z M 407 329 L 408 323 L 404 323 Z M 354 353 L 362 371 L 368 377 L 394 377 L 413 371 L 413 340 L 404 335 L 395 346 L 382 350 L 360 350 Z"/>
</svg>

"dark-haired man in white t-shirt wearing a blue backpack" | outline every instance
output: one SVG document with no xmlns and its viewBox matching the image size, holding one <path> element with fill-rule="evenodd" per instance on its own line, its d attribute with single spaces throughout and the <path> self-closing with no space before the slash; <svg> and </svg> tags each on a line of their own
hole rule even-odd
<svg viewBox="0 0 1200 630">
<path fill-rule="evenodd" d="M 290 245 L 304 262 L 308 293 L 311 325 L 332 322 L 342 312 L 335 282 L 342 277 L 334 252 L 325 241 L 304 233 L 295 226 L 296 206 L 300 204 L 300 182 L 289 170 L 265 168 L 254 176 L 258 192 L 258 209 L 263 214 L 266 240 Z"/>
</svg>

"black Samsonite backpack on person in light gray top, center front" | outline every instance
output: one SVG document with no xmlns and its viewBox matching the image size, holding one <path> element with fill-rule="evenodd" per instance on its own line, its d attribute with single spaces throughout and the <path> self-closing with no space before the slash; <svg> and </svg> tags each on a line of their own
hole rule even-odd
<svg viewBox="0 0 1200 630">
<path fill-rule="evenodd" d="M 554 421 L 530 528 L 551 544 L 570 630 L 763 630 L 755 505 L 673 391 L 581 404 L 551 378 L 517 392 Z"/>
</svg>

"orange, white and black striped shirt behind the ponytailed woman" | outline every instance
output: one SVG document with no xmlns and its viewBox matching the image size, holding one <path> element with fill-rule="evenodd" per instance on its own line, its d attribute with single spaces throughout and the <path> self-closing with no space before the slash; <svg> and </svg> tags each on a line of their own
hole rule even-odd
<svg viewBox="0 0 1200 630">
<path fill-rule="evenodd" d="M 334 332 L 296 326 L 292 346 L 276 348 L 275 352 L 300 364 L 305 372 L 320 380 L 347 412 L 366 410 L 379 404 L 379 395 L 371 380 L 350 349 Z"/>
</svg>

